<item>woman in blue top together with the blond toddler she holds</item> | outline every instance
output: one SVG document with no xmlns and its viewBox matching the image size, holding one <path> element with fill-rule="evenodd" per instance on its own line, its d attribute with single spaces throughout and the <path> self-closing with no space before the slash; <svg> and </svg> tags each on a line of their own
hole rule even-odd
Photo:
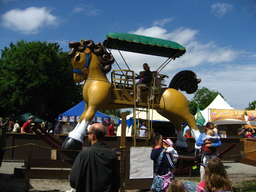
<svg viewBox="0 0 256 192">
<path fill-rule="evenodd" d="M 207 163 L 210 159 L 217 157 L 216 150 L 218 147 L 221 146 L 221 141 L 218 135 L 213 131 L 214 125 L 211 122 L 208 122 L 205 125 L 205 129 L 203 133 L 201 133 L 196 141 L 196 146 L 201 147 L 203 149 L 202 155 L 202 164 L 200 167 L 200 175 L 201 175 L 201 182 L 204 178 L 204 167 L 206 167 Z M 212 130 L 212 131 L 209 131 Z M 209 131 L 209 133 L 208 133 Z M 214 135 L 214 136 L 211 136 Z"/>
</svg>

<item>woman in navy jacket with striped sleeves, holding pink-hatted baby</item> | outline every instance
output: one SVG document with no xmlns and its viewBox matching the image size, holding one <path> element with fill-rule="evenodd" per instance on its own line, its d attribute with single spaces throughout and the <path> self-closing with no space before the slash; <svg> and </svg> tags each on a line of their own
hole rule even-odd
<svg viewBox="0 0 256 192">
<path fill-rule="evenodd" d="M 154 181 L 151 186 L 151 191 L 162 192 L 164 182 L 163 178 L 174 179 L 171 170 L 175 169 L 176 164 L 173 162 L 172 156 L 169 153 L 164 153 L 163 137 L 159 133 L 154 133 L 150 139 L 146 141 L 147 147 L 152 147 L 150 159 L 154 161 Z M 168 186 L 165 186 L 168 187 Z"/>
</svg>

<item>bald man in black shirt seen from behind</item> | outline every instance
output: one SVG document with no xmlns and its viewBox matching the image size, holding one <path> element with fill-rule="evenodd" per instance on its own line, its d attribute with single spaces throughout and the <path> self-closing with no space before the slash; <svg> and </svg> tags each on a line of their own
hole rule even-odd
<svg viewBox="0 0 256 192">
<path fill-rule="evenodd" d="M 103 143 L 106 129 L 92 124 L 86 132 L 89 148 L 80 152 L 70 171 L 70 186 L 80 191 L 118 192 L 120 188 L 119 163 L 116 152 Z"/>
</svg>

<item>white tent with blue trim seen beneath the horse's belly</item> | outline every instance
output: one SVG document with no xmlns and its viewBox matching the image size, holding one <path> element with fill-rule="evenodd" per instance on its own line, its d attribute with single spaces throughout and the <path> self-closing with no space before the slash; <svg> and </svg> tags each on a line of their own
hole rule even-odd
<svg viewBox="0 0 256 192">
<path fill-rule="evenodd" d="M 145 110 L 143 108 L 139 108 L 139 109 L 140 110 Z M 150 120 L 151 120 L 152 119 L 152 109 L 149 109 L 149 114 L 150 114 Z M 130 115 L 127 115 L 126 120 L 130 119 L 130 117 L 133 117 L 133 113 L 131 113 Z M 136 118 L 147 119 L 147 112 L 145 112 L 145 111 L 136 111 Z M 156 110 L 153 110 L 153 120 L 154 121 L 170 122 L 168 119 L 166 119 L 165 117 L 163 117 L 159 113 L 157 113 Z M 132 136 L 132 125 L 130 127 L 126 126 L 126 134 L 125 135 L 126 136 Z M 116 136 L 121 136 L 121 124 L 117 128 Z"/>
</svg>

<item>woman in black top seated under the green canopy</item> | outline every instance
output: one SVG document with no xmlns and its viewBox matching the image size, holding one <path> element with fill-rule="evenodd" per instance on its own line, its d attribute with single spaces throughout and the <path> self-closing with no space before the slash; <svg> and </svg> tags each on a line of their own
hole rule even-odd
<svg viewBox="0 0 256 192">
<path fill-rule="evenodd" d="M 143 69 L 145 71 L 144 77 L 143 77 L 144 79 L 140 82 L 140 84 L 136 86 L 136 90 L 137 90 L 136 102 L 141 102 L 141 90 L 148 89 L 148 87 L 151 84 L 151 80 L 153 76 L 153 73 L 149 70 L 150 68 L 148 67 L 147 63 L 143 64 Z M 139 76 L 136 77 L 136 79 L 137 78 L 139 78 Z"/>
</svg>

